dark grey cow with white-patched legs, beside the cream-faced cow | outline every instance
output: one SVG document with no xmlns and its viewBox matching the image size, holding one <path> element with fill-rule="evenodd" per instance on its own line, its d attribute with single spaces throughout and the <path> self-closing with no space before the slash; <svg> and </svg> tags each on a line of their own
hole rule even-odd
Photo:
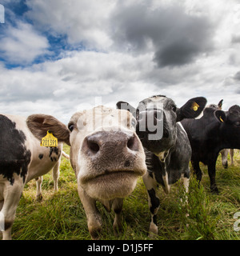
<svg viewBox="0 0 240 256">
<path fill-rule="evenodd" d="M 136 116 L 137 134 L 146 152 L 147 172 L 143 176 L 143 182 L 150 207 L 150 237 L 158 234 L 157 214 L 160 206 L 156 194 L 158 185 L 162 185 L 163 190 L 168 194 L 170 185 L 182 178 L 186 192 L 188 191 L 191 148 L 180 121 L 183 118 L 197 117 L 205 105 L 206 98 L 198 97 L 190 99 L 184 106 L 177 108 L 174 101 L 164 95 L 142 100 L 137 109 L 128 102 L 117 103 L 118 109 L 130 110 Z M 152 119 L 152 125 L 149 122 L 150 119 Z"/>
</svg>

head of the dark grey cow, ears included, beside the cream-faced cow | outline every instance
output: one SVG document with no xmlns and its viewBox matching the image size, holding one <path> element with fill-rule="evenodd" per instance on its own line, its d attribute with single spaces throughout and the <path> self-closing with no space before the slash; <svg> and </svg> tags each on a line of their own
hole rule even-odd
<svg viewBox="0 0 240 256">
<path fill-rule="evenodd" d="M 142 145 L 161 159 L 176 142 L 176 123 L 183 118 L 195 118 L 206 105 L 206 98 L 192 98 L 178 108 L 171 98 L 158 95 L 139 102 L 134 109 L 127 102 L 118 102 L 120 109 L 132 110 L 137 118 L 137 134 Z"/>
</svg>

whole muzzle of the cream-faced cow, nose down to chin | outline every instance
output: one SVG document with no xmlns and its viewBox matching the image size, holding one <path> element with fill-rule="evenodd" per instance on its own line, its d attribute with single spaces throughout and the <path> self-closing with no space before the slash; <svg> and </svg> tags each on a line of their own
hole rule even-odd
<svg viewBox="0 0 240 256">
<path fill-rule="evenodd" d="M 98 131 L 86 136 L 78 182 L 92 198 L 124 198 L 146 173 L 145 154 L 132 131 Z"/>
</svg>

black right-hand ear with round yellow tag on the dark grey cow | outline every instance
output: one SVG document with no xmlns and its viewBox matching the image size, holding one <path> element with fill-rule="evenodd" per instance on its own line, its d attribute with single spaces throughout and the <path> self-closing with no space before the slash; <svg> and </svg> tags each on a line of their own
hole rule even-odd
<svg viewBox="0 0 240 256">
<path fill-rule="evenodd" d="M 206 98 L 191 98 L 186 104 L 177 110 L 177 122 L 184 118 L 197 118 L 206 106 Z"/>
</svg>

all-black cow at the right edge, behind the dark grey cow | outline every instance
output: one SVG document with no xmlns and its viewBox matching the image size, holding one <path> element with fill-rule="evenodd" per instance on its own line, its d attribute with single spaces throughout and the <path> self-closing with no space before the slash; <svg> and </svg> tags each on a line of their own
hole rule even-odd
<svg viewBox="0 0 240 256">
<path fill-rule="evenodd" d="M 192 166 L 198 181 L 202 180 L 199 162 L 208 168 L 210 190 L 218 194 L 216 161 L 222 149 L 240 149 L 240 106 L 228 111 L 206 107 L 200 119 L 182 120 L 192 148 Z"/>
</svg>

